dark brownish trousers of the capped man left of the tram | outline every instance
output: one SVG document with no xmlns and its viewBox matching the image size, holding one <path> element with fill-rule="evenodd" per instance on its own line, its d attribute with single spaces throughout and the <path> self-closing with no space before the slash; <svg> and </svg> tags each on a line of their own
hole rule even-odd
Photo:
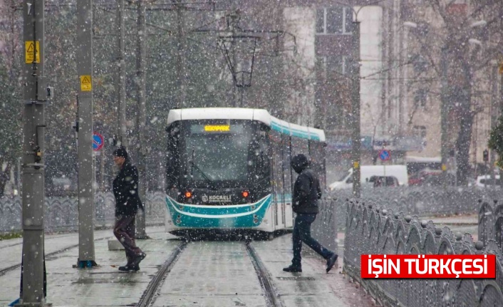
<svg viewBox="0 0 503 307">
<path fill-rule="evenodd" d="M 113 227 L 113 234 L 123 244 L 128 265 L 142 254 L 142 250 L 135 244 L 135 216 L 122 215 L 118 217 Z"/>
</svg>

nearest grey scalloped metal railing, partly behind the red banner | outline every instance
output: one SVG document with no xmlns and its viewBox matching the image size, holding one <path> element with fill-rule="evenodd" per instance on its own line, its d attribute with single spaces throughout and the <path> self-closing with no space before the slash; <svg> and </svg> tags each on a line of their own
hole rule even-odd
<svg viewBox="0 0 503 307">
<path fill-rule="evenodd" d="M 478 204 L 478 202 L 476 202 Z M 496 279 L 361 279 L 361 254 L 496 254 Z M 503 258 L 494 240 L 394 213 L 372 202 L 346 202 L 343 270 L 382 306 L 503 306 Z"/>
</svg>

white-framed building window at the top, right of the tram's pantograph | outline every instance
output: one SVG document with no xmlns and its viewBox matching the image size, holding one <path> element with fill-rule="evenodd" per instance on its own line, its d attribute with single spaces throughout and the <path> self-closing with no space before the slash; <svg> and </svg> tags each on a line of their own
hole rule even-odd
<svg viewBox="0 0 503 307">
<path fill-rule="evenodd" d="M 351 34 L 353 31 L 353 10 L 336 6 L 316 10 L 316 33 Z"/>
</svg>

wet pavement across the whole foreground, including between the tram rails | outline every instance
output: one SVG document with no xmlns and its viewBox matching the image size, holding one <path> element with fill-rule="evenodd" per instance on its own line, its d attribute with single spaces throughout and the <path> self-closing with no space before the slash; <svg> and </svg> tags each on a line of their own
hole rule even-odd
<svg viewBox="0 0 503 307">
<path fill-rule="evenodd" d="M 97 268 L 73 268 L 78 248 L 46 257 L 47 302 L 54 307 L 135 306 L 152 277 L 180 243 L 174 236 L 165 234 L 163 227 L 148 227 L 147 234 L 152 239 L 138 240 L 147 258 L 136 273 L 118 271 L 118 266 L 125 263 L 125 254 L 108 250 L 108 239 L 113 237 L 110 229 L 95 231 Z M 0 242 L 0 269 L 21 261 L 22 240 L 9 241 Z M 47 235 L 46 254 L 75 244 L 78 244 L 76 233 Z M 301 274 L 282 271 L 291 261 L 291 234 L 251 244 L 266 266 L 284 306 L 374 306 L 363 289 L 349 283 L 341 274 L 341 267 L 334 267 L 326 274 L 326 261 L 319 256 L 305 254 Z M 342 263 L 342 255 L 338 263 Z M 0 276 L 0 306 L 19 297 L 19 281 L 20 269 Z M 230 293 L 229 289 L 234 288 L 242 290 Z M 182 251 L 154 306 L 165 306 L 167 302 L 169 306 L 265 306 L 244 242 L 222 241 L 192 242 Z M 246 305 L 240 305 L 244 302 Z"/>
</svg>

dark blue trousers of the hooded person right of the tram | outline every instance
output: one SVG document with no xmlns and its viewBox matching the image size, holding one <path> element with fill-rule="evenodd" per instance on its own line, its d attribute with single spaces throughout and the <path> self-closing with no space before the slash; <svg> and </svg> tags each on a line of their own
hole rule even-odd
<svg viewBox="0 0 503 307">
<path fill-rule="evenodd" d="M 311 224 L 316 219 L 316 214 L 298 213 L 295 217 L 294 233 L 294 259 L 291 261 L 292 266 L 301 267 L 301 251 L 302 242 L 311 247 L 313 251 L 320 254 L 324 259 L 328 259 L 333 255 L 333 251 L 329 251 L 311 237 Z"/>
</svg>

